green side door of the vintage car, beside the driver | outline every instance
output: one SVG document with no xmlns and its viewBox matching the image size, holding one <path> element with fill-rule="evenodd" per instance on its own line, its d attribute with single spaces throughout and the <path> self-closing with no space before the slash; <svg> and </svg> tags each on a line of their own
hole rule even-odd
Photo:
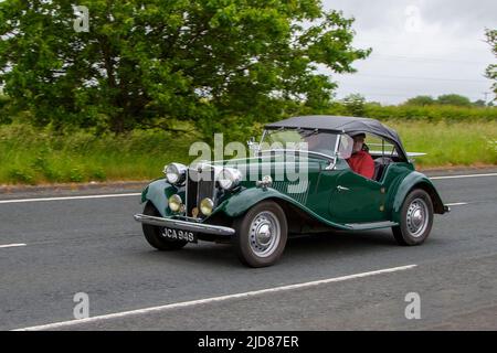
<svg viewBox="0 0 497 353">
<path fill-rule="evenodd" d="M 370 223 L 387 220 L 385 188 L 380 182 L 352 172 L 342 159 L 329 172 L 338 173 L 329 200 L 329 213 L 336 222 Z"/>
</svg>

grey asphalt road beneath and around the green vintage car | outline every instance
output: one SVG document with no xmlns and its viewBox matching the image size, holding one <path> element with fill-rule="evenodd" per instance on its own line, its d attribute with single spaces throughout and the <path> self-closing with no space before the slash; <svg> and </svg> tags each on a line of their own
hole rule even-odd
<svg viewBox="0 0 497 353">
<path fill-rule="evenodd" d="M 398 246 L 390 231 L 299 237 L 261 269 L 230 245 L 152 249 L 136 195 L 0 195 L 0 330 L 496 330 L 497 175 L 434 182 L 463 204 L 435 216 L 424 245 Z M 104 317 L 74 324 L 77 292 Z M 421 319 L 405 318 L 410 292 Z"/>
</svg>

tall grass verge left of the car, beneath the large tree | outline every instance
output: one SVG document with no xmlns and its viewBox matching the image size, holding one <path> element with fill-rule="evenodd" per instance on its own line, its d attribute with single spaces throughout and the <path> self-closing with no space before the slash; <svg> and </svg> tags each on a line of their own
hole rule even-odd
<svg viewBox="0 0 497 353">
<path fill-rule="evenodd" d="M 158 129 L 126 135 L 66 133 L 27 125 L 0 126 L 0 184 L 145 180 L 169 160 L 186 160 L 193 135 Z"/>
</svg>

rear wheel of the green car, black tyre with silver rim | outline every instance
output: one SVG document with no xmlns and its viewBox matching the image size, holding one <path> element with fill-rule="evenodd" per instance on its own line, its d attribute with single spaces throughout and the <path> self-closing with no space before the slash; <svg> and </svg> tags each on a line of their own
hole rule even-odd
<svg viewBox="0 0 497 353">
<path fill-rule="evenodd" d="M 411 191 L 401 208 L 401 222 L 392 227 L 393 237 L 400 245 L 420 245 L 430 235 L 433 225 L 433 203 L 421 189 Z"/>
</svg>

